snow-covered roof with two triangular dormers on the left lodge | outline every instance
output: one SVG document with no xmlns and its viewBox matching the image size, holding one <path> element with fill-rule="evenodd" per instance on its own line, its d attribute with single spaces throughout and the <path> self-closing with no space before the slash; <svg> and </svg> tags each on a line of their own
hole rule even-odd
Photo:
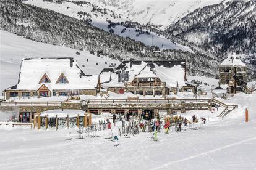
<svg viewBox="0 0 256 170">
<path fill-rule="evenodd" d="M 49 82 L 41 82 L 47 75 Z M 67 83 L 58 83 L 64 75 Z M 18 90 L 37 90 L 43 84 L 53 89 L 95 89 L 98 75 L 85 75 L 73 58 L 25 58 L 22 59 Z"/>
</svg>

